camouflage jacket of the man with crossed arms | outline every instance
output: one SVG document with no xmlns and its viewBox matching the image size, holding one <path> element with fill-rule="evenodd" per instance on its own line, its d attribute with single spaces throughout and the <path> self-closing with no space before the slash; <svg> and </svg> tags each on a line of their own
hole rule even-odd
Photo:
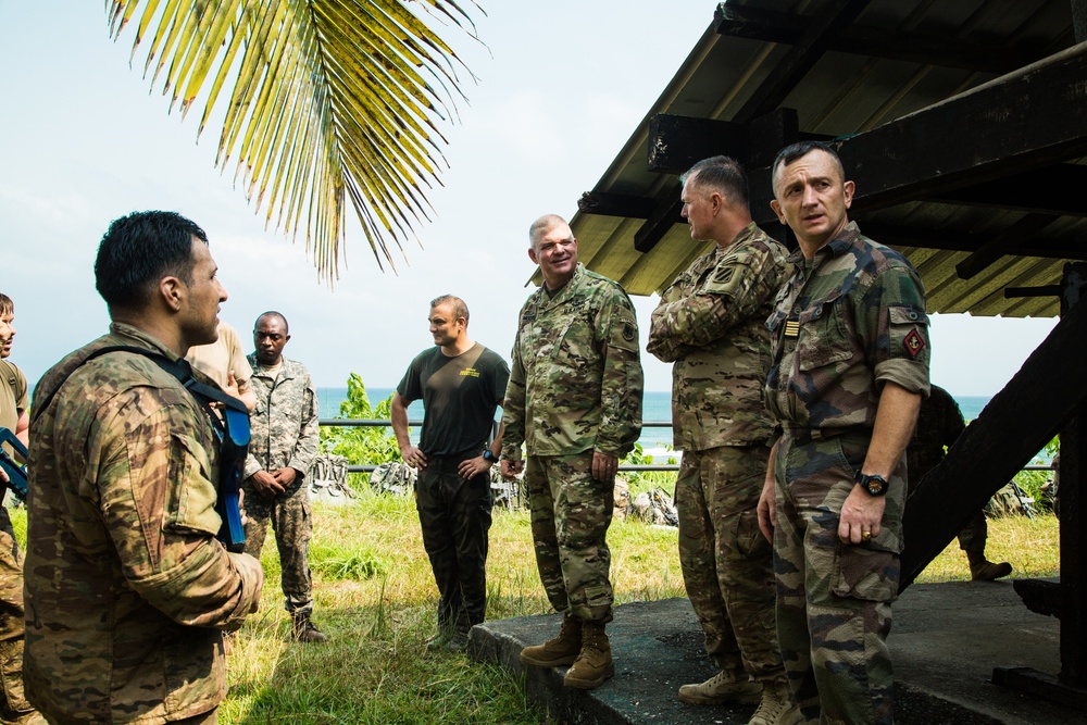
<svg viewBox="0 0 1087 725">
<path fill-rule="evenodd" d="M 646 350 L 672 367 L 675 447 L 700 451 L 765 442 L 774 428 L 763 387 L 766 316 L 785 280 L 788 250 L 754 223 L 714 247 L 664 290 Z"/>
</svg>

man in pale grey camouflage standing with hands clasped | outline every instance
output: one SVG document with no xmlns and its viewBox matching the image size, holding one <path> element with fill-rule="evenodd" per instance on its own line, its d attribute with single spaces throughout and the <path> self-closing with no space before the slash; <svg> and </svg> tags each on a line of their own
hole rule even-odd
<svg viewBox="0 0 1087 725">
<path fill-rule="evenodd" d="M 287 318 L 265 312 L 253 326 L 257 351 L 250 387 L 257 407 L 250 414 L 252 440 L 246 461 L 246 552 L 260 559 L 268 522 L 279 550 L 284 607 L 291 636 L 301 642 L 328 637 L 313 624 L 310 536 L 313 514 L 305 476 L 317 453 L 317 390 L 302 363 L 283 357 L 290 339 Z"/>
</svg>

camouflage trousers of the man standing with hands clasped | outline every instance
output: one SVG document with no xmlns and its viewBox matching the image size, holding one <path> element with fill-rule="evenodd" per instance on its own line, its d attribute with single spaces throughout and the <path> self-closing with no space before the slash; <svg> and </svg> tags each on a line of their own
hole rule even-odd
<svg viewBox="0 0 1087 725">
<path fill-rule="evenodd" d="M 279 550 L 284 607 L 291 613 L 313 610 L 313 580 L 310 576 L 310 536 L 313 514 L 310 511 L 310 490 L 304 476 L 295 479 L 291 488 L 275 497 L 264 497 L 253 490 L 246 479 L 246 553 L 261 558 L 268 522 L 275 532 Z"/>
</svg>

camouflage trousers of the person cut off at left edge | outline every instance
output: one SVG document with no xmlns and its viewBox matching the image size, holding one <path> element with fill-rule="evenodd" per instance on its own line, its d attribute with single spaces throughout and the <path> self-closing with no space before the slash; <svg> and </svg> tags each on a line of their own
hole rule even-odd
<svg viewBox="0 0 1087 725">
<path fill-rule="evenodd" d="M 41 722 L 23 693 L 23 552 L 0 503 L 0 723 Z"/>
</svg>

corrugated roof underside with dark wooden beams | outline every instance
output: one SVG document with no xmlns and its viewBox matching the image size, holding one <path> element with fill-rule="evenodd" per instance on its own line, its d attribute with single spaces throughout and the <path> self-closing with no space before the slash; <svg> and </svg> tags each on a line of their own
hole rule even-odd
<svg viewBox="0 0 1087 725">
<path fill-rule="evenodd" d="M 795 246 L 769 166 L 822 138 L 857 182 L 850 217 L 917 266 L 929 312 L 1057 315 L 1065 262 L 1087 259 L 1085 51 L 1069 0 L 721 3 L 579 200 L 579 258 L 662 291 L 710 247 L 678 214 L 678 174 L 714 153 L 745 163 L 755 221 Z"/>
</svg>

